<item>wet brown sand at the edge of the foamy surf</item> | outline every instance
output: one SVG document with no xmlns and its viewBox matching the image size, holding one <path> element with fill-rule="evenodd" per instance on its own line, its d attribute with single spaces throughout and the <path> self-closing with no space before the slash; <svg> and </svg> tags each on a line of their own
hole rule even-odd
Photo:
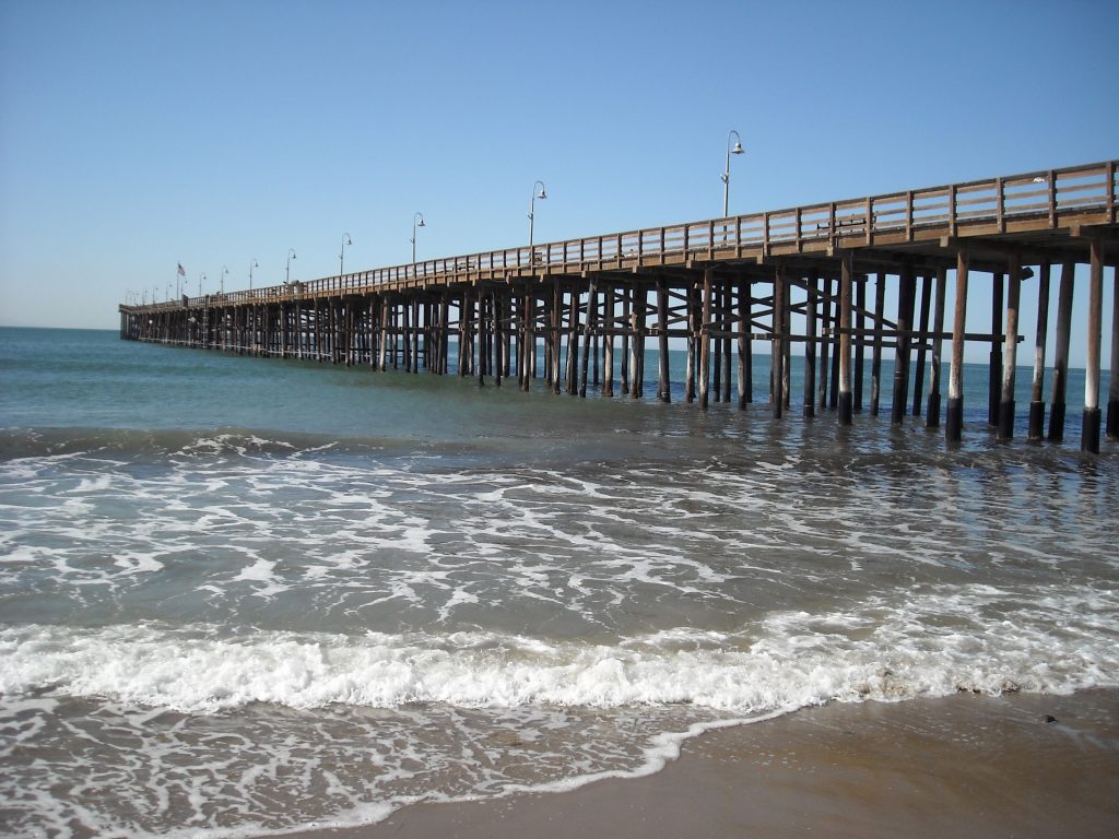
<svg viewBox="0 0 1119 839">
<path fill-rule="evenodd" d="M 647 777 L 300 836 L 1113 839 L 1119 690 L 829 705 L 711 732 Z"/>
</svg>

